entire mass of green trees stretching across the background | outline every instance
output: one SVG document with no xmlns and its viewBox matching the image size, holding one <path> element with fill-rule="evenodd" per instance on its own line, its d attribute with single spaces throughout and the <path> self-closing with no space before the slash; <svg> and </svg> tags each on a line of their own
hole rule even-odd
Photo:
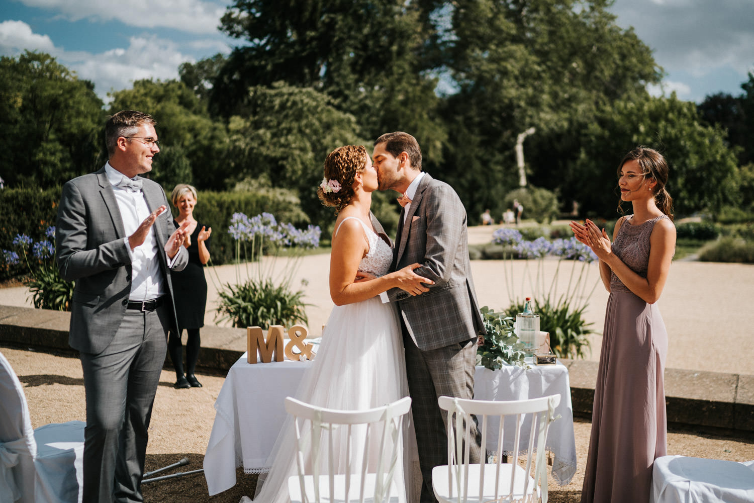
<svg viewBox="0 0 754 503">
<path fill-rule="evenodd" d="M 611 0 L 234 0 L 220 29 L 238 38 L 179 68 L 139 80 L 109 112 L 158 121 L 152 176 L 166 189 L 293 189 L 313 222 L 331 219 L 314 186 L 345 143 L 405 130 L 423 167 L 449 182 L 470 215 L 495 218 L 520 189 L 516 137 L 529 184 L 615 215 L 615 167 L 636 145 L 670 164 L 679 214 L 754 204 L 754 75 L 743 94 L 700 106 L 651 97 L 663 70 Z M 0 61 L 0 142 L 8 186 L 56 186 L 96 169 L 105 113 L 92 85 L 47 54 Z M 379 204 L 390 203 L 391 195 Z M 385 210 L 385 214 L 390 210 Z"/>
</svg>

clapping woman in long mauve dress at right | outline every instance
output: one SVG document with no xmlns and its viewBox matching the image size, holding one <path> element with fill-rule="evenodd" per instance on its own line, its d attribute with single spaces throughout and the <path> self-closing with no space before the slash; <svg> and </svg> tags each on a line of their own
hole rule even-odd
<svg viewBox="0 0 754 503">
<path fill-rule="evenodd" d="M 582 503 L 649 501 L 654 459 L 666 454 L 667 332 L 655 302 L 676 248 L 667 176 L 659 152 L 633 149 L 618 168 L 621 204 L 630 202 L 633 214 L 618 219 L 613 241 L 589 219 L 571 222 L 578 241 L 599 257 L 610 292 Z"/>
</svg>

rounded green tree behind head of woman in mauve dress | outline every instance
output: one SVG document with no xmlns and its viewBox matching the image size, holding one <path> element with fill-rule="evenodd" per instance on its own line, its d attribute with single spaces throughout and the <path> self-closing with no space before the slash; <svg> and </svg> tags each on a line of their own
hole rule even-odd
<svg viewBox="0 0 754 503">
<path fill-rule="evenodd" d="M 667 190 L 676 214 L 715 213 L 740 200 L 736 157 L 725 143 L 725 130 L 704 124 L 694 103 L 678 100 L 675 93 L 606 106 L 581 130 L 579 144 L 578 158 L 561 175 L 567 195 L 590 216 L 617 216 L 618 162 L 637 145 L 658 149 L 667 159 Z"/>
</svg>

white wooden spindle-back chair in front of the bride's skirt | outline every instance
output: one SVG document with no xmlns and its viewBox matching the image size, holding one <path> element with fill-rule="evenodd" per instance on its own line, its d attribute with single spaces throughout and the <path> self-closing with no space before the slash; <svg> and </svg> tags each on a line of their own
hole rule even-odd
<svg viewBox="0 0 754 503">
<path fill-rule="evenodd" d="M 403 488 L 394 475 L 410 406 L 405 397 L 375 409 L 335 410 L 287 397 L 298 473 L 288 479 L 291 503 L 398 501 Z"/>
</svg>

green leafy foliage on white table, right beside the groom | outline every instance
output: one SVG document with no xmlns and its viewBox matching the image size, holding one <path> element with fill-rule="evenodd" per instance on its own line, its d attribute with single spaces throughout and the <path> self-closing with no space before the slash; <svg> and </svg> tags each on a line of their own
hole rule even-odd
<svg viewBox="0 0 754 503">
<path fill-rule="evenodd" d="M 497 370 L 504 364 L 527 367 L 524 363 L 523 342 L 513 333 L 512 317 L 484 306 L 480 309 L 487 335 L 484 345 L 477 349 L 477 365 Z"/>
</svg>

